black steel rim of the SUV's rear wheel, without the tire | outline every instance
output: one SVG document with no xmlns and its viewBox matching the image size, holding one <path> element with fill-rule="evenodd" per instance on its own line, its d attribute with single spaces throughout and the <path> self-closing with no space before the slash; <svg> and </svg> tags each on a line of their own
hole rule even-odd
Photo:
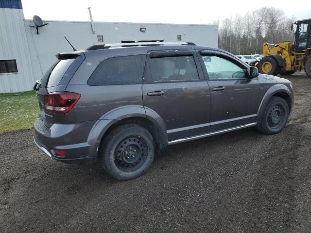
<svg viewBox="0 0 311 233">
<path fill-rule="evenodd" d="M 135 171 L 147 159 L 148 145 L 139 136 L 132 135 L 124 138 L 115 151 L 115 164 L 123 171 Z"/>
</svg>

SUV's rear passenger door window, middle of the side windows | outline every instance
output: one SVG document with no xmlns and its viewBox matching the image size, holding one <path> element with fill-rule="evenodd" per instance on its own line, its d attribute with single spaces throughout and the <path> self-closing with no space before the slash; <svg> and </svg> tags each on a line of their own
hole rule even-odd
<svg viewBox="0 0 311 233">
<path fill-rule="evenodd" d="M 151 58 L 149 76 L 149 81 L 152 82 L 199 79 L 193 56 Z"/>
</svg>

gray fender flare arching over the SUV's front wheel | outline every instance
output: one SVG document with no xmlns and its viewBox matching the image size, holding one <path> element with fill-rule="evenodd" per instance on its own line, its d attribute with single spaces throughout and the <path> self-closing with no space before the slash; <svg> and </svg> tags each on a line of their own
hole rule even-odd
<svg viewBox="0 0 311 233">
<path fill-rule="evenodd" d="M 260 102 L 260 105 L 259 105 L 259 108 L 258 108 L 258 111 L 257 111 L 257 124 L 260 124 L 261 122 L 261 118 L 262 118 L 262 115 L 265 111 L 265 108 L 267 106 L 267 103 L 268 101 L 276 94 L 276 93 L 279 93 L 279 92 L 284 92 L 286 94 L 289 95 L 289 97 L 291 98 L 291 103 L 293 105 L 293 96 L 292 96 L 292 91 L 284 84 L 275 84 L 273 86 L 271 86 L 267 91 L 266 93 L 264 94 L 261 102 Z"/>
</svg>

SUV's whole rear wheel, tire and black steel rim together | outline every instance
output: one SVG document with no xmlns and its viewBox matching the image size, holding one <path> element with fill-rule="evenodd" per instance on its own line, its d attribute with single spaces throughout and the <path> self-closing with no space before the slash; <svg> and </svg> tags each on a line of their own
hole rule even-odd
<svg viewBox="0 0 311 233">
<path fill-rule="evenodd" d="M 134 179 L 152 164 L 155 157 L 154 139 L 139 125 L 121 125 L 106 136 L 99 155 L 110 176 L 118 180 Z"/>
</svg>

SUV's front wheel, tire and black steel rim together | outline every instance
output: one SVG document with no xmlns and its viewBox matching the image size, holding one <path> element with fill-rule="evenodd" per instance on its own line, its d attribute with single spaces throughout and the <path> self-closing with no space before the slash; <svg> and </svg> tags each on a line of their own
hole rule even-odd
<svg viewBox="0 0 311 233">
<path fill-rule="evenodd" d="M 288 116 L 287 102 L 280 97 L 272 97 L 266 106 L 257 129 L 265 134 L 279 133 L 285 127 Z"/>
</svg>

